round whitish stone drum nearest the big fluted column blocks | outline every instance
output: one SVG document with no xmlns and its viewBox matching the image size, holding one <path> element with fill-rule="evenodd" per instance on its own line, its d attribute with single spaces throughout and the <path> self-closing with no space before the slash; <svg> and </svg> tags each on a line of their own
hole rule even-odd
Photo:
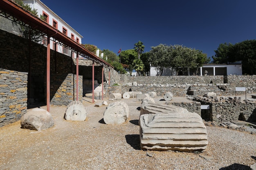
<svg viewBox="0 0 256 170">
<path fill-rule="evenodd" d="M 123 124 L 128 117 L 129 107 L 121 101 L 109 104 L 103 113 L 103 120 L 106 124 Z"/>
</svg>

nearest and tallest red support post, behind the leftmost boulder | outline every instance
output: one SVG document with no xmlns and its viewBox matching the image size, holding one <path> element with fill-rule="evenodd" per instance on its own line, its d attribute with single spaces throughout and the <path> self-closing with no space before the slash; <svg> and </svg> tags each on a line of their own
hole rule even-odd
<svg viewBox="0 0 256 170">
<path fill-rule="evenodd" d="M 50 37 L 47 35 L 47 61 L 46 61 L 46 105 L 47 112 L 50 112 Z"/>
</svg>

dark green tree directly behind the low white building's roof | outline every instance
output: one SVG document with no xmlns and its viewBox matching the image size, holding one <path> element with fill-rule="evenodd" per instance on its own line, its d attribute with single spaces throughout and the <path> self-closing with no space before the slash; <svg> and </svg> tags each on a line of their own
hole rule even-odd
<svg viewBox="0 0 256 170">
<path fill-rule="evenodd" d="M 231 51 L 233 48 L 233 44 L 229 43 L 224 43 L 220 44 L 217 50 L 214 50 L 215 57 L 212 56 L 213 61 L 212 63 L 215 64 L 228 64 L 229 59 L 231 59 Z"/>
</svg>

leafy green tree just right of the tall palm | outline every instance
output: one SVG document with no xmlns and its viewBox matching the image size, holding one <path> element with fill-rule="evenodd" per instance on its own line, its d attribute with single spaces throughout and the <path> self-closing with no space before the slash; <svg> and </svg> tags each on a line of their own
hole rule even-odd
<svg viewBox="0 0 256 170">
<path fill-rule="evenodd" d="M 164 67 L 170 66 L 173 55 L 173 48 L 166 44 L 159 44 L 158 46 L 151 46 L 150 56 L 148 61 L 157 67 L 157 75 L 163 74 Z M 159 73 L 160 72 L 160 73 Z"/>
</svg>

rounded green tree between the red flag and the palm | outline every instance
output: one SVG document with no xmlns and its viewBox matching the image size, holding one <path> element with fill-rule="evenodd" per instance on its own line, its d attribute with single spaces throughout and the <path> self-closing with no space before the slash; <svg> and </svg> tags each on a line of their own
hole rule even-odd
<svg viewBox="0 0 256 170">
<path fill-rule="evenodd" d="M 124 65 L 124 68 L 128 69 L 130 72 L 130 75 L 132 75 L 132 62 L 135 60 L 137 53 L 134 49 L 129 49 L 122 51 L 119 54 L 119 57 L 121 55 L 121 63 Z"/>
</svg>

